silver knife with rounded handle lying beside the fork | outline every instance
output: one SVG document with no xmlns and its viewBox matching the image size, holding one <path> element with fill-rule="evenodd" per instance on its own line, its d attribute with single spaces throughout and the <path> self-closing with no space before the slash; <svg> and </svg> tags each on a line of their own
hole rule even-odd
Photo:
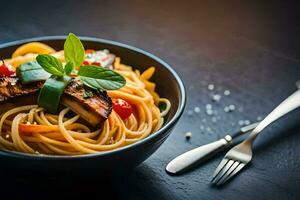
<svg viewBox="0 0 300 200">
<path fill-rule="evenodd" d="M 232 135 L 226 135 L 224 138 L 215 142 L 197 147 L 186 153 L 183 153 L 174 158 L 166 167 L 166 171 L 170 174 L 180 174 L 195 165 L 205 162 L 213 157 L 216 153 L 224 150 L 230 145 L 233 139 L 253 130 L 259 122 L 242 127 L 238 132 Z"/>
</svg>

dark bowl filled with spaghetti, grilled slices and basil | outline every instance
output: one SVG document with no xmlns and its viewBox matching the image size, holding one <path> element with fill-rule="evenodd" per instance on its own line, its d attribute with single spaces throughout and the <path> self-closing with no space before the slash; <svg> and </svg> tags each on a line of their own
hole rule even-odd
<svg viewBox="0 0 300 200">
<path fill-rule="evenodd" d="M 0 45 L 0 160 L 22 170 L 128 169 L 185 106 L 176 72 L 114 41 L 66 36 Z"/>
</svg>

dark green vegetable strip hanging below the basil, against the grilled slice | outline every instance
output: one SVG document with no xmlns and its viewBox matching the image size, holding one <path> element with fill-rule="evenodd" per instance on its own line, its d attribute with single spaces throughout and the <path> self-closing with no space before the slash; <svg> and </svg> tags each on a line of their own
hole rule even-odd
<svg viewBox="0 0 300 200">
<path fill-rule="evenodd" d="M 58 110 L 60 97 L 71 80 L 72 78 L 69 76 L 51 76 L 47 79 L 38 97 L 39 106 L 55 114 Z"/>
</svg>

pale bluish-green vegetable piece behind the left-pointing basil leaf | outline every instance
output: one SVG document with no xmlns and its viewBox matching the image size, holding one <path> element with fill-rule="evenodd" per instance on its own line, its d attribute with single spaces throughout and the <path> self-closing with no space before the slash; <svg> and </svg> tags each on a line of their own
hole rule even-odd
<svg viewBox="0 0 300 200">
<path fill-rule="evenodd" d="M 17 68 L 17 76 L 22 84 L 47 80 L 50 75 L 36 61 L 24 63 Z"/>
</svg>

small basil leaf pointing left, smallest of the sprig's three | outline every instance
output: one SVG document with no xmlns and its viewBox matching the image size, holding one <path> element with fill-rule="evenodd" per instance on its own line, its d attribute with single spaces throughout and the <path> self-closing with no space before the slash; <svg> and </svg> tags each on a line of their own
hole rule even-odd
<svg viewBox="0 0 300 200">
<path fill-rule="evenodd" d="M 36 57 L 36 61 L 43 67 L 43 69 L 50 74 L 56 76 L 64 75 L 64 68 L 60 60 L 55 58 L 54 56 L 42 54 Z"/>
</svg>

